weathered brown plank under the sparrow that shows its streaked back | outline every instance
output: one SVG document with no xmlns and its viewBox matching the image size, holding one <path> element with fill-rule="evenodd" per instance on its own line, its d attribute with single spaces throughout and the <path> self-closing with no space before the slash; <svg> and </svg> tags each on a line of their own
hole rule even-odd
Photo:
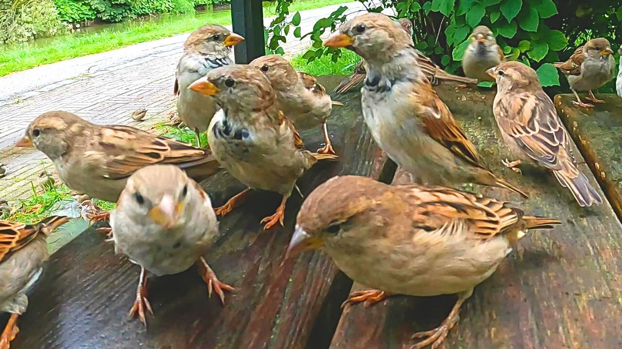
<svg viewBox="0 0 622 349">
<path fill-rule="evenodd" d="M 508 191 L 475 189 L 563 222 L 554 230 L 531 232 L 475 288 L 445 348 L 621 348 L 622 226 L 611 206 L 582 209 L 549 173 L 525 166 L 519 176 L 504 168 L 501 159 L 509 155 L 493 119 L 493 92 L 450 85 L 437 90 L 493 171 L 520 184 L 531 199 L 521 202 Z M 622 150 L 620 144 L 616 150 Z M 587 166 L 581 168 L 593 180 Z M 393 296 L 368 308 L 349 307 L 330 348 L 408 348 L 412 333 L 439 325 L 454 301 L 455 296 Z"/>
</svg>

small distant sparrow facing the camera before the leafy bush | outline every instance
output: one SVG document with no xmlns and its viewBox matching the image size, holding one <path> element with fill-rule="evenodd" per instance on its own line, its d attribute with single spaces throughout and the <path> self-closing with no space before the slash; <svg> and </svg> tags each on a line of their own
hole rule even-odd
<svg viewBox="0 0 622 349">
<path fill-rule="evenodd" d="M 466 76 L 479 81 L 493 81 L 486 70 L 505 61 L 501 47 L 497 45 L 493 32 L 486 25 L 473 30 L 465 55 L 462 57 L 462 70 Z"/>
</svg>

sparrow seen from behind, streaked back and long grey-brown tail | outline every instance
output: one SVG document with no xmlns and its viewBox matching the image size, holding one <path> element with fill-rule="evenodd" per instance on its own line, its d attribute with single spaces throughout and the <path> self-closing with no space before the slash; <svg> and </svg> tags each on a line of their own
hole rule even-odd
<svg viewBox="0 0 622 349">
<path fill-rule="evenodd" d="M 582 207 L 601 204 L 603 199 L 577 168 L 570 137 L 557 116 L 555 106 L 542 90 L 536 71 L 518 61 L 501 63 L 488 70 L 496 79 L 494 119 L 505 144 L 514 156 L 550 170 Z M 521 160 L 507 161 L 514 168 Z"/>
</svg>

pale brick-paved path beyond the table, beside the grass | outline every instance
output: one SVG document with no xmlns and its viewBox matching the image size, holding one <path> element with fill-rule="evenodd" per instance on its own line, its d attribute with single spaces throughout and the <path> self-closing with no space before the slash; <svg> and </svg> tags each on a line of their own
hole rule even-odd
<svg viewBox="0 0 622 349">
<path fill-rule="evenodd" d="M 348 12 L 363 9 L 360 2 L 302 11 L 302 32 L 339 6 Z M 264 24 L 269 24 L 266 19 Z M 293 31 L 292 33 L 293 34 Z M 7 176 L 0 179 L 0 199 L 14 200 L 32 193 L 30 181 L 50 161 L 40 152 L 11 145 L 24 134 L 32 119 L 46 111 L 75 112 L 98 124 L 126 124 L 146 129 L 165 120 L 174 109 L 172 89 L 175 67 L 188 34 L 139 43 L 111 52 L 39 66 L 0 78 L 0 163 Z M 285 52 L 294 55 L 309 47 L 309 40 L 287 37 Z M 134 122 L 129 116 L 147 109 L 147 119 Z"/>
</svg>

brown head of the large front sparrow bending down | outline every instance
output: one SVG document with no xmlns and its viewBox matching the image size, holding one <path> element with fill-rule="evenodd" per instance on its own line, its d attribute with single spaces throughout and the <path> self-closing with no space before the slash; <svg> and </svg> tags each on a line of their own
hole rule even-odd
<svg viewBox="0 0 622 349">
<path fill-rule="evenodd" d="M 318 186 L 300 207 L 289 256 L 360 237 L 356 232 L 386 225 L 391 186 L 361 176 L 338 176 Z"/>
</svg>

